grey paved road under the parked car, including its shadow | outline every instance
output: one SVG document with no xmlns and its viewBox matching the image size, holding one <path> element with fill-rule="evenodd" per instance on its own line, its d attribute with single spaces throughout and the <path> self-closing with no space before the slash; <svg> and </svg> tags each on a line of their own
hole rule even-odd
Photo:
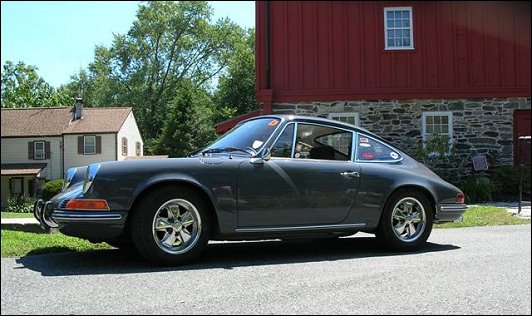
<svg viewBox="0 0 532 316">
<path fill-rule="evenodd" d="M 2 259 L 2 314 L 528 314 L 530 225 L 434 230 L 424 251 L 214 243 L 158 268 L 118 250 Z"/>
</svg>

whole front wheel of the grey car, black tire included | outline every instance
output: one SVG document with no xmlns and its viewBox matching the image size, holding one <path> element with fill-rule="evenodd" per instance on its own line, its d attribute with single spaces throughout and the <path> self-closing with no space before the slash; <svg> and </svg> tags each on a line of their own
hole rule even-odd
<svg viewBox="0 0 532 316">
<path fill-rule="evenodd" d="M 133 210 L 131 238 L 137 251 L 151 262 L 179 265 L 193 261 L 209 241 L 210 211 L 209 203 L 190 188 L 158 189 Z"/>
</svg>

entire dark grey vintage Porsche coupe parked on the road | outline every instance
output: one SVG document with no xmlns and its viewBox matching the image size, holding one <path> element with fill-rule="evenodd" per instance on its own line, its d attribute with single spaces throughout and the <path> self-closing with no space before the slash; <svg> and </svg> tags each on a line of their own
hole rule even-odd
<svg viewBox="0 0 532 316">
<path fill-rule="evenodd" d="M 66 235 L 179 264 L 209 240 L 359 231 L 413 250 L 433 223 L 461 220 L 466 209 L 462 191 L 367 130 L 268 115 L 190 157 L 72 168 L 60 194 L 36 202 L 35 216 Z"/>
</svg>

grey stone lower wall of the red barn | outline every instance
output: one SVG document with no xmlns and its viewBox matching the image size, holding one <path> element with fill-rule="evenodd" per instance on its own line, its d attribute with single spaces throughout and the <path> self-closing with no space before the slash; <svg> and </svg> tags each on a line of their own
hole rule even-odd
<svg viewBox="0 0 532 316">
<path fill-rule="evenodd" d="M 423 112 L 452 112 L 453 144 L 462 165 L 486 155 L 491 167 L 513 163 L 513 112 L 530 109 L 530 98 L 454 100 L 363 100 L 273 104 L 276 114 L 327 117 L 329 113 L 359 113 L 360 127 L 414 155 L 422 142 Z"/>
</svg>

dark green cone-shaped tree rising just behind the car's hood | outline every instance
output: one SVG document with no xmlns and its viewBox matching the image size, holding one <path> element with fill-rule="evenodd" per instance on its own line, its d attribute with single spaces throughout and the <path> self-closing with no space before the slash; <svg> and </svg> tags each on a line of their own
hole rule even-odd
<svg viewBox="0 0 532 316">
<path fill-rule="evenodd" d="M 190 81 L 179 87 L 168 109 L 161 136 L 155 142 L 155 154 L 184 157 L 216 137 L 211 120 L 211 99 Z"/>
</svg>

